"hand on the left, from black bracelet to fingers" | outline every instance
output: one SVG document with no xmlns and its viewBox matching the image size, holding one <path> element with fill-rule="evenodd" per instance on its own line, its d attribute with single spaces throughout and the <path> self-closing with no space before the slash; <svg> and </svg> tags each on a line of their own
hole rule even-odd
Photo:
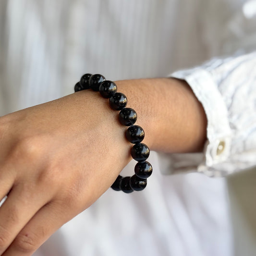
<svg viewBox="0 0 256 256">
<path fill-rule="evenodd" d="M 131 160 L 117 114 L 84 91 L 0 118 L 0 255 L 31 255 L 110 187 Z"/>
</svg>

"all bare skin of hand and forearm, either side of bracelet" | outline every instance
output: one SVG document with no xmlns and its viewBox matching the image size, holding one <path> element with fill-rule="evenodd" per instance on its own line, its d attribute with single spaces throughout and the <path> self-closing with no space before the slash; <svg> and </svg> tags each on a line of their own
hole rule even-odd
<svg viewBox="0 0 256 256">
<path fill-rule="evenodd" d="M 202 150 L 206 115 L 184 81 L 116 84 L 151 150 Z M 132 159 L 126 128 L 92 90 L 0 117 L 0 198 L 8 194 L 0 207 L 0 255 L 32 255 L 110 187 Z"/>
</svg>

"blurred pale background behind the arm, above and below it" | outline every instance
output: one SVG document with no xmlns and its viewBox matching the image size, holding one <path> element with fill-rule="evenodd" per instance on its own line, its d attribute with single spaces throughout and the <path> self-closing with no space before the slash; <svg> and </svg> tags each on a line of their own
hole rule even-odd
<svg viewBox="0 0 256 256">
<path fill-rule="evenodd" d="M 0 115 L 73 93 L 83 73 L 166 77 L 255 45 L 255 0 L 1 0 Z M 150 158 L 146 194 L 107 191 L 35 255 L 256 255 L 256 170 L 163 176 Z"/>
</svg>

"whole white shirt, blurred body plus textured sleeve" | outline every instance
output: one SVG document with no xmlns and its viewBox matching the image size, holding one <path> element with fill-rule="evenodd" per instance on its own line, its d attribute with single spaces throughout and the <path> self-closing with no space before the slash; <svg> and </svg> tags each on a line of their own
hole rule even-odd
<svg viewBox="0 0 256 256">
<path fill-rule="evenodd" d="M 0 115 L 73 93 L 85 72 L 110 80 L 161 77 L 216 56 L 252 52 L 255 6 L 255 0 L 2 0 Z M 154 175 L 145 191 L 108 190 L 35 256 L 232 255 L 224 179 L 160 172 L 218 176 L 255 164 L 255 90 L 249 93 L 255 56 L 222 59 L 174 74 L 205 107 L 206 154 L 162 159 L 151 152 Z M 240 96 L 239 108 L 232 106 Z M 247 104 L 253 112 L 241 112 Z M 217 159 L 219 140 L 225 149 Z M 132 161 L 123 172 L 133 169 Z"/>
</svg>

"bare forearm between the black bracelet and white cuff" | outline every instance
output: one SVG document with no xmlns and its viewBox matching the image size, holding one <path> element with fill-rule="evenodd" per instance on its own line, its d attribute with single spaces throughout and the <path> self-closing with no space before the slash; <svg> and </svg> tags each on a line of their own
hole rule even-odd
<svg viewBox="0 0 256 256">
<path fill-rule="evenodd" d="M 155 151 L 201 151 L 207 119 L 189 85 L 173 78 L 122 80 L 118 91 L 137 112 L 136 124 L 145 130 L 144 142 Z"/>
</svg>

